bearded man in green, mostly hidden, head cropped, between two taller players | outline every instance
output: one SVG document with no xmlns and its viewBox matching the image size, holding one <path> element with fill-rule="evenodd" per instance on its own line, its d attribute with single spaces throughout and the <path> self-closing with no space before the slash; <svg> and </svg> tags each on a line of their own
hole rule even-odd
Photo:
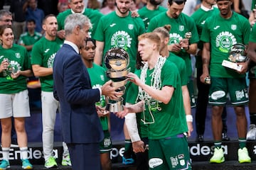
<svg viewBox="0 0 256 170">
<path fill-rule="evenodd" d="M 139 17 L 142 18 L 146 29 L 149 25 L 149 21 L 151 20 L 151 18 L 161 12 L 166 11 L 166 8 L 164 8 L 163 6 L 159 6 L 162 2 L 163 0 L 148 0 L 146 2 L 146 6 L 139 9 Z"/>
</svg>

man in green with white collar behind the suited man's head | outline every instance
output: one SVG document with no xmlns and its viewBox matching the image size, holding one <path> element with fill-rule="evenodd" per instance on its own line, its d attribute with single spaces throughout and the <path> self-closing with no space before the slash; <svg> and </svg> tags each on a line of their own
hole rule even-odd
<svg viewBox="0 0 256 170">
<path fill-rule="evenodd" d="M 85 2 L 83 0 L 68 0 L 68 6 L 70 7 L 70 9 L 67 9 L 62 13 L 59 13 L 57 16 L 58 37 L 61 39 L 65 38 L 65 31 L 64 31 L 65 18 L 72 13 L 82 13 L 83 15 L 87 16 L 90 19 L 90 22 L 92 23 L 92 28 L 90 28 L 89 35 L 91 38 L 94 38 L 98 21 L 103 16 L 103 14 L 100 13 L 100 11 L 98 10 L 85 8 Z"/>
</svg>

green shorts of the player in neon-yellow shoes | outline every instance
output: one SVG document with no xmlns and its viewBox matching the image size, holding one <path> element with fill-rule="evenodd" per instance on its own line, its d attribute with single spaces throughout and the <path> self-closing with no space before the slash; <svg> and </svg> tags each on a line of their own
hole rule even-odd
<svg viewBox="0 0 256 170">
<path fill-rule="evenodd" d="M 227 102 L 227 94 L 233 106 L 245 105 L 248 103 L 248 91 L 245 77 L 219 78 L 210 77 L 209 103 L 213 106 L 223 106 Z"/>
</svg>

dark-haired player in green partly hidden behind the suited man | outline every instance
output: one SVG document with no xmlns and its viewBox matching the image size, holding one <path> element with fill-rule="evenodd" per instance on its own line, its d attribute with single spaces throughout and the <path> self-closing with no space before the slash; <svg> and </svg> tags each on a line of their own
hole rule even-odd
<svg viewBox="0 0 256 170">
<path fill-rule="evenodd" d="M 93 63 L 95 57 L 96 42 L 91 38 L 85 40 L 85 47 L 79 50 L 82 57 L 82 62 L 85 64 L 88 73 L 90 74 L 90 81 L 92 89 L 100 88 L 107 82 L 105 69 L 99 65 Z M 102 170 L 111 170 L 110 151 L 112 150 L 112 141 L 109 131 L 109 118 L 110 112 L 105 111 L 106 101 L 105 96 L 100 98 L 100 101 L 96 103 L 97 115 L 100 118 L 100 123 L 104 132 L 104 139 L 100 142 L 100 161 Z"/>
</svg>

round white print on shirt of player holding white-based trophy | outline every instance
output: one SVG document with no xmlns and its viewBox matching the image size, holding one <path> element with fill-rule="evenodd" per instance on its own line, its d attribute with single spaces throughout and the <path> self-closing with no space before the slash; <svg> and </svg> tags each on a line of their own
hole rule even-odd
<svg viewBox="0 0 256 170">
<path fill-rule="evenodd" d="M 221 51 L 228 53 L 230 47 L 234 44 L 237 44 L 237 40 L 233 33 L 228 31 L 222 31 L 216 36 L 216 47 Z"/>
</svg>

